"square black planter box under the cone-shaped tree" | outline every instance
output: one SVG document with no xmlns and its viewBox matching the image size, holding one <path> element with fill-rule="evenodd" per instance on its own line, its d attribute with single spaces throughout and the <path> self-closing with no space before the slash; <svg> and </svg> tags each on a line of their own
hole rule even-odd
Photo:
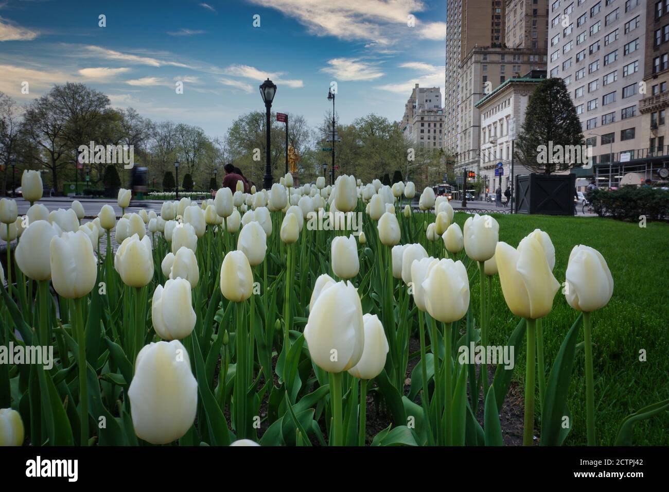
<svg viewBox="0 0 669 492">
<path fill-rule="evenodd" d="M 516 176 L 516 214 L 573 216 L 575 174 Z"/>
</svg>

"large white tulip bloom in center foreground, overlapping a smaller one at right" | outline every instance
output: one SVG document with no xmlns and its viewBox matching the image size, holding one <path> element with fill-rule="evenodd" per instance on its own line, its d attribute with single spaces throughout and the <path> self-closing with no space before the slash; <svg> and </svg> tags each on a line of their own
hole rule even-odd
<svg viewBox="0 0 669 492">
<path fill-rule="evenodd" d="M 327 372 L 351 369 L 363 355 L 363 308 L 351 282 L 337 282 L 318 295 L 309 312 L 304 339 L 312 361 Z"/>
</svg>

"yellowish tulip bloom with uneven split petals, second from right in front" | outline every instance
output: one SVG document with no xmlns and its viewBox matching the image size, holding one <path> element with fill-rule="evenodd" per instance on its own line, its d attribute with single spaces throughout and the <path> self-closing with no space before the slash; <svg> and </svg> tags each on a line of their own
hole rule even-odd
<svg viewBox="0 0 669 492">
<path fill-rule="evenodd" d="M 517 250 L 498 242 L 495 261 L 504 301 L 514 315 L 537 319 L 551 312 L 560 283 L 536 237 L 524 238 Z"/>
</svg>

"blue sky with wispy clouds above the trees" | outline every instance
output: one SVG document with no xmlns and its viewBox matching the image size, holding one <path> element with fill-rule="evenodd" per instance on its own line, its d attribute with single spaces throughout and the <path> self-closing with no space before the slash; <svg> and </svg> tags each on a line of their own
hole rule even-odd
<svg viewBox="0 0 669 492">
<path fill-rule="evenodd" d="M 272 109 L 310 125 L 330 108 L 330 81 L 341 122 L 369 112 L 399 120 L 413 84 L 443 89 L 445 4 L 0 0 L 0 90 L 23 103 L 53 84 L 84 82 L 113 106 L 222 137 L 237 116 L 263 109 L 258 86 L 270 76 Z"/>
</svg>

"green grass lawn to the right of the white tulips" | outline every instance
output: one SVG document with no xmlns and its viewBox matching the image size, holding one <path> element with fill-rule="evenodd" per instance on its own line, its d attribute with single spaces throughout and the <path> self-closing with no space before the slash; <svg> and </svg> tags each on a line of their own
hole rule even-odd
<svg viewBox="0 0 669 492">
<path fill-rule="evenodd" d="M 517 247 L 518 242 L 539 228 L 555 245 L 555 269 L 559 282 L 571 248 L 585 244 L 604 256 L 613 275 L 613 297 L 593 313 L 595 371 L 595 425 L 597 443 L 611 445 L 623 418 L 639 408 L 669 398 L 669 224 L 617 222 L 603 218 L 493 215 L 500 224 L 499 240 Z M 464 225 L 466 214 L 456 214 Z M 471 276 L 470 272 L 470 276 Z M 478 273 L 471 282 L 472 309 L 478 313 Z M 504 345 L 518 319 L 506 307 L 499 278 L 493 283 L 490 344 Z M 548 372 L 569 327 L 578 316 L 565 301 L 561 289 L 553 311 L 544 319 L 545 360 Z M 583 329 L 580 332 L 583 340 Z M 646 362 L 639 360 L 646 351 Z M 522 384 L 525 373 L 524 344 L 517 355 L 514 378 Z M 573 427 L 565 444 L 586 443 L 584 353 L 575 359 L 569 390 Z M 540 420 L 537 389 L 537 418 Z M 634 444 L 669 444 L 669 412 L 639 422 Z"/>
</svg>

